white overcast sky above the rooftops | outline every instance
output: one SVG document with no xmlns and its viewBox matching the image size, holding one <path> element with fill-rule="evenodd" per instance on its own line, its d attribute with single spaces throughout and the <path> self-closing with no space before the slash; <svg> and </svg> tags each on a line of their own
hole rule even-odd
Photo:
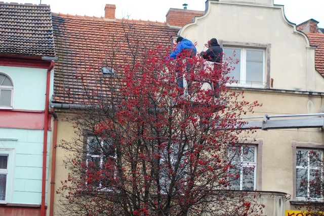
<svg viewBox="0 0 324 216">
<path fill-rule="evenodd" d="M 1 0 L 0 0 L 1 1 Z M 285 5 L 287 19 L 300 24 L 309 19 L 319 22 L 324 28 L 324 0 L 273 0 L 276 5 Z M 3 2 L 46 4 L 55 13 L 70 15 L 104 16 L 106 4 L 116 5 L 116 18 L 130 15 L 131 19 L 166 21 L 166 14 L 170 8 L 183 8 L 188 4 L 188 10 L 205 10 L 206 0 L 3 0 Z"/>
</svg>

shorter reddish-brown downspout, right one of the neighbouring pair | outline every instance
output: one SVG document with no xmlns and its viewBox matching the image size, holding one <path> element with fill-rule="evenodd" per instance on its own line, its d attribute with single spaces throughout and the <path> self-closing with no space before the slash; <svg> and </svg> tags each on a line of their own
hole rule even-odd
<svg viewBox="0 0 324 216">
<path fill-rule="evenodd" d="M 55 186 L 55 167 L 56 167 L 56 142 L 57 142 L 57 124 L 58 118 L 54 111 L 54 108 L 51 108 L 51 114 L 54 117 L 54 126 L 53 126 L 53 144 L 52 144 L 52 166 L 51 166 L 51 194 L 50 194 L 50 216 L 54 215 L 54 186 Z"/>
</svg>

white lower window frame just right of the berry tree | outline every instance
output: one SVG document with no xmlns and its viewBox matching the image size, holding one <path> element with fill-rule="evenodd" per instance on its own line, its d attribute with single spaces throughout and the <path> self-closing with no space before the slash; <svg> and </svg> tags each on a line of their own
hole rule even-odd
<svg viewBox="0 0 324 216">
<path fill-rule="evenodd" d="M 256 190 L 256 188 L 257 188 L 257 169 L 258 169 L 258 167 L 257 167 L 257 154 L 258 154 L 257 146 L 251 145 L 251 144 L 241 144 L 237 147 L 240 148 L 240 155 L 239 155 L 240 161 L 232 161 L 231 164 L 239 167 L 238 168 L 239 169 L 239 190 L 243 190 L 243 177 L 244 177 L 243 172 L 244 172 L 244 169 L 246 169 L 246 168 L 248 168 L 248 169 L 254 168 L 254 170 L 253 170 L 253 190 Z M 244 152 L 243 149 L 245 147 L 254 148 L 254 158 L 253 158 L 254 161 L 244 161 L 243 160 L 244 155 L 242 154 L 242 152 Z"/>
</svg>

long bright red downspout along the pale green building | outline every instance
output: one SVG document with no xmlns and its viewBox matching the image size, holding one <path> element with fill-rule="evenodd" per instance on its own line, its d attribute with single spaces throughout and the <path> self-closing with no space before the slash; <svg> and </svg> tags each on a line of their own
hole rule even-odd
<svg viewBox="0 0 324 216">
<path fill-rule="evenodd" d="M 49 129 L 48 124 L 49 124 L 50 81 L 51 81 L 51 71 L 53 70 L 53 68 L 54 68 L 54 61 L 51 61 L 51 65 L 50 65 L 49 69 L 47 69 L 46 94 L 45 94 L 41 216 L 46 215 L 45 195 L 46 195 L 47 136 L 48 136 L 48 129 Z"/>
</svg>

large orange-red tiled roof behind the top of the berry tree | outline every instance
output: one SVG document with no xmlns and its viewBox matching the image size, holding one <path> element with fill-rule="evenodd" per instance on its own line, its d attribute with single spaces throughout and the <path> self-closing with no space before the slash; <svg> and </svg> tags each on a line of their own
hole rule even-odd
<svg viewBox="0 0 324 216">
<path fill-rule="evenodd" d="M 155 47 L 157 44 L 170 45 L 170 37 L 179 31 L 166 23 L 139 20 L 105 20 L 54 13 L 52 20 L 58 57 L 52 103 L 82 103 L 83 88 L 77 84 L 76 77 L 82 76 L 89 85 L 91 82 L 95 85 L 94 77 L 103 76 L 101 67 L 105 59 L 113 59 L 115 65 L 132 61 L 125 34 L 131 35 L 131 39 L 140 39 L 138 44 L 142 46 Z"/>
</svg>

